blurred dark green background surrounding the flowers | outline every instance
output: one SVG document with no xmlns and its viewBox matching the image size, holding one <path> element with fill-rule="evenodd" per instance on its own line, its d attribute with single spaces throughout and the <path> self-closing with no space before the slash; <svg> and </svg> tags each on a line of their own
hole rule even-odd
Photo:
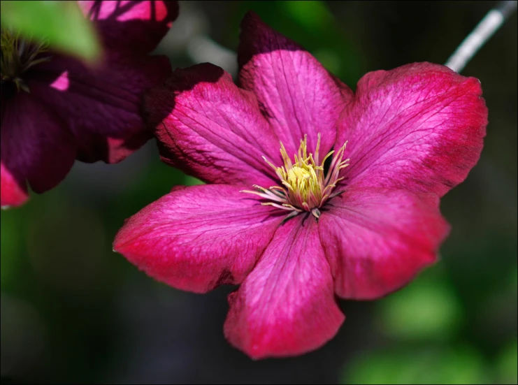
<svg viewBox="0 0 518 385">
<path fill-rule="evenodd" d="M 350 87 L 364 73 L 443 64 L 495 1 L 192 1 L 157 52 L 173 67 L 235 71 L 247 10 L 308 48 Z M 207 43 L 208 42 L 208 43 Z M 211 45 L 212 44 L 212 45 Z M 112 252 L 125 218 L 194 184 L 154 141 L 121 164 L 75 164 L 66 180 L 1 213 L 3 383 L 517 383 L 517 16 L 462 74 L 482 82 L 482 157 L 442 200 L 440 262 L 347 319 L 322 349 L 251 361 L 224 339 L 224 286 L 206 295 L 154 282 Z"/>
</svg>

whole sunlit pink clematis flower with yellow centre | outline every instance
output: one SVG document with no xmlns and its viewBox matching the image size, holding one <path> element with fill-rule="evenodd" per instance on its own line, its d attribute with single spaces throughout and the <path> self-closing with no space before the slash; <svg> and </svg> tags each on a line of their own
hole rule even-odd
<svg viewBox="0 0 518 385">
<path fill-rule="evenodd" d="M 477 79 L 429 63 L 353 93 L 257 16 L 241 27 L 240 87 L 200 64 L 146 97 L 162 159 L 208 184 L 148 205 L 114 248 L 178 289 L 240 284 L 226 338 L 292 356 L 336 334 L 335 294 L 379 298 L 436 261 L 439 198 L 480 157 L 487 108 Z"/>
</svg>

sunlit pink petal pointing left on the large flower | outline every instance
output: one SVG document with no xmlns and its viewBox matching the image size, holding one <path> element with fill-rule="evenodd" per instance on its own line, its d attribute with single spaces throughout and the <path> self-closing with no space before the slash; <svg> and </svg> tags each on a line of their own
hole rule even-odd
<svg viewBox="0 0 518 385">
<path fill-rule="evenodd" d="M 282 221 L 278 210 L 224 184 L 173 189 L 131 217 L 114 249 L 148 275 L 203 293 L 239 284 Z"/>
</svg>

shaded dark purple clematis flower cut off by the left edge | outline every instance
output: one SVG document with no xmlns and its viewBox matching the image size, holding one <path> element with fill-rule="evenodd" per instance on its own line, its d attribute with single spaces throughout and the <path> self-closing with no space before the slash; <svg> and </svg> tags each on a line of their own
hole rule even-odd
<svg viewBox="0 0 518 385">
<path fill-rule="evenodd" d="M 171 75 L 150 57 L 177 1 L 79 1 L 103 44 L 103 62 L 49 52 L 2 30 L 1 206 L 21 205 L 63 180 L 75 159 L 121 161 L 152 137 L 141 117 L 145 89 Z"/>
</svg>

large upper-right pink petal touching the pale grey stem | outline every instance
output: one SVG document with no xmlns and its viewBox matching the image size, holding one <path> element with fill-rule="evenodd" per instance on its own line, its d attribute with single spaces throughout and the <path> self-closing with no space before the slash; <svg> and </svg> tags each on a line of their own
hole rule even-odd
<svg viewBox="0 0 518 385">
<path fill-rule="evenodd" d="M 487 126 L 480 82 L 445 66 L 408 64 L 368 73 L 343 113 L 345 182 L 443 196 L 477 163 Z"/>
</svg>

